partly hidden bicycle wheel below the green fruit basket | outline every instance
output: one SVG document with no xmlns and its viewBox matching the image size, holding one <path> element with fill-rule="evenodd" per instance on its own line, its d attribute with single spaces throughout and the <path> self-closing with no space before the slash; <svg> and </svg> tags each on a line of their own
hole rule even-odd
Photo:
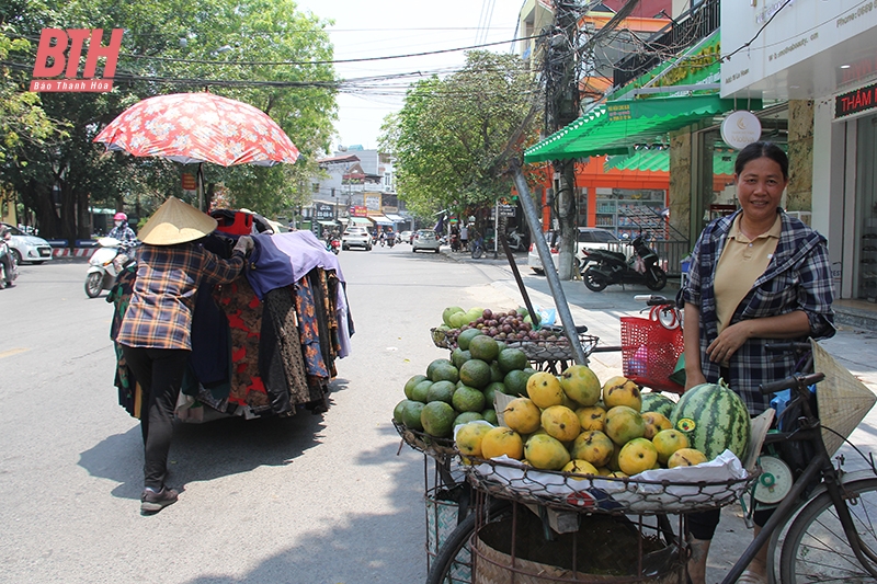
<svg viewBox="0 0 877 584">
<path fill-rule="evenodd" d="M 498 500 L 491 502 L 487 518 L 481 518 L 471 513 L 447 537 L 438 554 L 430 566 L 426 584 L 470 584 L 472 582 L 472 556 L 469 551 L 469 541 L 475 535 L 475 529 L 486 522 L 496 522 L 512 513 L 510 501 Z"/>
</svg>

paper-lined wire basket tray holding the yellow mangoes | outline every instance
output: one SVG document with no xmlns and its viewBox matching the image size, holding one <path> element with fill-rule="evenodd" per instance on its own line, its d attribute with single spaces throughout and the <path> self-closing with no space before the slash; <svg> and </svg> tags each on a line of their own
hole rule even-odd
<svg viewBox="0 0 877 584">
<path fill-rule="evenodd" d="M 737 501 L 758 474 L 747 473 L 737 457 L 730 457 L 720 456 L 707 472 L 697 467 L 664 469 L 663 473 L 673 479 L 662 480 L 539 470 L 503 457 L 471 458 L 465 470 L 472 486 L 500 499 L 578 513 L 657 515 L 708 511 Z M 653 477 L 659 472 L 642 474 Z M 681 474 L 687 478 L 680 480 Z M 710 478 L 699 480 L 698 476 Z"/>
</svg>

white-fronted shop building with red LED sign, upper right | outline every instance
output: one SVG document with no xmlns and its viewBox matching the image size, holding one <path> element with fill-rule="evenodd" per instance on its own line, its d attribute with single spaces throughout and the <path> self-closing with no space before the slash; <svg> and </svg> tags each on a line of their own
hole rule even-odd
<svg viewBox="0 0 877 584">
<path fill-rule="evenodd" d="M 785 107 L 786 208 L 828 238 L 839 320 L 877 328 L 877 2 L 726 2 L 721 19 L 722 98 Z"/>
</svg>

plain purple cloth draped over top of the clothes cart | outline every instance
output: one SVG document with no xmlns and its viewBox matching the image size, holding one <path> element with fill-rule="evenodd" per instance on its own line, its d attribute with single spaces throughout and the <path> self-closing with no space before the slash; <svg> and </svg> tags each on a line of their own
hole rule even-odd
<svg viewBox="0 0 877 584">
<path fill-rule="evenodd" d="M 269 290 L 298 282 L 315 267 L 333 270 L 341 282 L 341 264 L 310 231 L 252 236 L 255 248 L 247 261 L 246 274 L 261 300 Z"/>
</svg>

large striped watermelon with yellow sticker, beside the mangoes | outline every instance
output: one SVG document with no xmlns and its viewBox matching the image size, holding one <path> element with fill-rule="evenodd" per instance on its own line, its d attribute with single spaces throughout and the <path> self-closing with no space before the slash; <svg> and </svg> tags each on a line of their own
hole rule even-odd
<svg viewBox="0 0 877 584">
<path fill-rule="evenodd" d="M 707 460 L 726 448 L 742 459 L 749 446 L 749 410 L 721 379 L 683 393 L 670 414 L 670 422 L 685 433 L 692 448 L 704 453 Z"/>
</svg>

